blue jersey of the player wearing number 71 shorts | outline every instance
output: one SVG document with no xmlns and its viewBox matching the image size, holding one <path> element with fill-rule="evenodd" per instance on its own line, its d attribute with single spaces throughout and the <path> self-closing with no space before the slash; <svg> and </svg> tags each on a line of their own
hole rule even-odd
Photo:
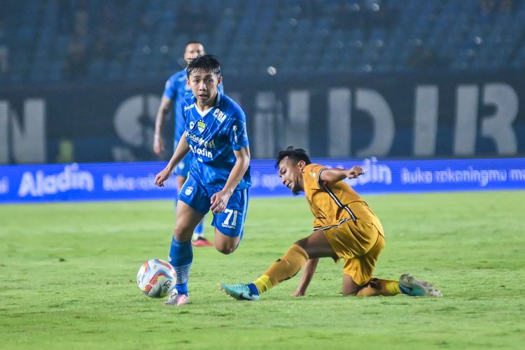
<svg viewBox="0 0 525 350">
<path fill-rule="evenodd" d="M 244 111 L 221 92 L 215 106 L 204 113 L 198 109 L 193 94 L 183 98 L 181 110 L 186 120 L 186 140 L 195 160 L 190 174 L 203 186 L 225 186 L 237 160 L 233 151 L 248 146 Z M 248 167 L 236 189 L 250 186 Z"/>
</svg>

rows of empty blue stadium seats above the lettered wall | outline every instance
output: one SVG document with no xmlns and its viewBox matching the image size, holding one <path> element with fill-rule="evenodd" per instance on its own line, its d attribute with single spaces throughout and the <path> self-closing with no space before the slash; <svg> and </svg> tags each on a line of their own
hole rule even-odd
<svg viewBox="0 0 525 350">
<path fill-rule="evenodd" d="M 386 26 L 370 21 L 370 3 L 359 0 L 276 0 L 276 6 L 263 0 L 122 1 L 122 10 L 113 18 L 118 23 L 109 44 L 113 54 L 90 61 L 87 78 L 165 76 L 178 68 L 183 45 L 190 39 L 202 41 L 233 73 L 265 73 L 269 64 L 280 64 L 280 71 L 289 73 L 409 71 L 407 57 L 414 45 L 433 50 L 445 62 L 444 69 L 525 67 L 525 1 L 517 2 L 514 13 L 496 11 L 491 16 L 482 15 L 477 0 L 380 2 L 393 16 Z M 97 37 L 104 35 L 99 34 L 104 9 L 116 10 L 112 0 L 86 3 L 89 28 L 84 40 L 91 57 Z M 185 3 L 190 8 L 208 6 L 216 20 L 193 34 L 181 31 Z M 13 2 L 10 6 L 18 15 L 8 17 L 5 28 L 13 64 L 2 81 L 65 80 L 79 4 L 73 3 L 69 30 L 62 32 L 57 1 Z M 358 11 L 345 25 L 344 11 L 352 6 Z M 236 68 L 239 57 L 244 57 L 242 69 Z"/>
</svg>

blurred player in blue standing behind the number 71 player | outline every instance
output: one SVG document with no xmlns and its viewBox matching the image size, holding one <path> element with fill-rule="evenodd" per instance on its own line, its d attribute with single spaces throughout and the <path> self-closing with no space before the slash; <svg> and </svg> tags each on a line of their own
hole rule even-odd
<svg viewBox="0 0 525 350">
<path fill-rule="evenodd" d="M 186 64 L 190 59 L 204 54 L 204 46 L 199 41 L 190 41 L 186 43 L 184 50 L 184 60 Z M 223 92 L 223 85 L 219 85 L 219 91 Z M 181 139 L 184 132 L 184 119 L 181 111 L 181 101 L 186 94 L 191 93 L 190 87 L 186 83 L 186 67 L 170 76 L 166 82 L 162 99 L 160 101 L 157 117 L 155 118 L 155 137 L 153 139 L 153 151 L 160 155 L 164 150 L 164 140 L 162 139 L 162 125 L 164 125 L 165 116 L 174 106 L 174 149 Z M 188 172 L 190 172 L 190 161 L 192 155 L 186 156 L 175 169 L 177 176 L 177 188 L 181 190 L 183 183 L 188 179 Z M 175 203 L 177 201 L 175 200 Z M 193 246 L 214 246 L 210 241 L 204 238 L 204 220 L 197 225 L 195 232 L 193 232 Z"/>
</svg>

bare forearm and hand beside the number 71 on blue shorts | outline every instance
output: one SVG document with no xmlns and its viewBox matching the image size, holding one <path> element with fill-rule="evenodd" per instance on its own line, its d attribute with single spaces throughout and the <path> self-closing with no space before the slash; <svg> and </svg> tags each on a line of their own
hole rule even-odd
<svg viewBox="0 0 525 350">
<path fill-rule="evenodd" d="M 224 209 L 226 209 L 226 204 L 228 204 L 230 196 L 250 166 L 249 146 L 243 147 L 239 149 L 239 151 L 233 151 L 233 153 L 237 160 L 235 160 L 235 165 L 230 172 L 230 176 L 228 176 L 228 181 L 226 181 L 224 188 L 220 192 L 214 193 L 214 195 L 211 196 L 210 210 L 214 214 L 222 213 Z"/>
</svg>

